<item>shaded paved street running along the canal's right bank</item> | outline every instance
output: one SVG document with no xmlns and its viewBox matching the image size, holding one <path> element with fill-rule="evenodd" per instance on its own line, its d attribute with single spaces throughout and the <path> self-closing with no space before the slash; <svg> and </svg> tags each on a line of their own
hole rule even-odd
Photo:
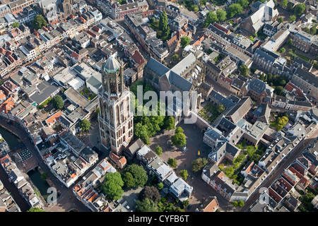
<svg viewBox="0 0 318 226">
<path fill-rule="evenodd" d="M 55 177 L 52 172 L 50 171 L 49 167 L 45 164 L 45 162 L 42 160 L 42 156 L 40 153 L 37 152 L 35 149 L 35 145 L 31 143 L 31 139 L 28 136 L 28 133 L 24 129 L 21 129 L 19 126 L 13 126 L 11 124 L 8 124 L 6 120 L 3 118 L 0 119 L 0 124 L 4 126 L 4 128 L 14 131 L 16 135 L 23 141 L 25 144 L 25 147 L 30 150 L 30 152 L 35 157 L 35 160 L 37 161 L 37 164 L 41 167 L 41 169 L 45 172 L 48 172 L 48 177 L 51 179 L 52 183 L 56 186 L 56 188 L 60 191 L 61 196 L 58 198 L 58 205 L 59 206 L 69 206 L 70 203 L 73 203 L 73 208 L 77 208 L 81 212 L 87 212 L 89 211 L 88 208 L 81 203 L 81 201 L 78 201 L 78 199 L 73 195 L 72 187 L 67 188 L 62 184 L 57 177 Z M 64 208 L 65 211 L 68 211 L 69 209 Z"/>
</svg>

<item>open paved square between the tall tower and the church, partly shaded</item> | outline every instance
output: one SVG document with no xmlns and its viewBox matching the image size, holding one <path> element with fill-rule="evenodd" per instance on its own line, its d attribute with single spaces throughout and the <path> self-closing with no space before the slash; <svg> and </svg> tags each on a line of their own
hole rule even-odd
<svg viewBox="0 0 318 226">
<path fill-rule="evenodd" d="M 192 161 L 198 157 L 207 157 L 211 152 L 211 148 L 203 142 L 204 133 L 196 124 L 184 124 L 182 121 L 177 126 L 184 129 L 184 135 L 187 138 L 186 151 L 183 152 L 175 147 L 175 145 L 172 145 L 170 137 L 175 134 L 174 129 L 171 131 L 162 130 L 157 133 L 156 136 L 150 138 L 150 148 L 155 150 L 155 147 L 160 145 L 160 147 L 163 148 L 163 154 L 160 157 L 165 162 L 167 162 L 170 157 L 175 158 L 177 160 L 177 168 L 175 169 L 177 175 L 179 175 L 180 170 L 187 169 L 189 176 L 186 181 L 193 186 L 194 191 L 189 199 L 192 208 L 189 210 L 186 208 L 186 211 L 193 212 L 199 203 L 204 201 L 205 198 L 208 198 L 208 196 L 216 196 L 218 198 L 221 211 L 232 210 L 232 205 L 201 179 L 201 171 L 192 172 Z M 200 156 L 198 156 L 198 150 L 200 150 Z"/>
</svg>

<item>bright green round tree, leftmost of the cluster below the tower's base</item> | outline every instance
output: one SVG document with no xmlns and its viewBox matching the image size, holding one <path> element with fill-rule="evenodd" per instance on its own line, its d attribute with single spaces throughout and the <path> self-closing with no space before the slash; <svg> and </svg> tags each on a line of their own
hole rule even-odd
<svg viewBox="0 0 318 226">
<path fill-rule="evenodd" d="M 109 172 L 105 176 L 104 184 L 102 184 L 102 190 L 105 194 L 114 200 L 122 198 L 124 190 L 122 189 L 124 182 L 119 172 Z"/>
</svg>

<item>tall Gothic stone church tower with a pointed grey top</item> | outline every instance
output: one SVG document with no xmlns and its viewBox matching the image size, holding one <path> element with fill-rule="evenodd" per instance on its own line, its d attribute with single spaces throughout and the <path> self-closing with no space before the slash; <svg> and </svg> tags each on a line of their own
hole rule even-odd
<svg viewBox="0 0 318 226">
<path fill-rule="evenodd" d="M 98 91 L 100 141 L 105 148 L 120 155 L 134 136 L 134 126 L 124 69 L 114 57 L 102 64 L 102 87 Z"/>
</svg>

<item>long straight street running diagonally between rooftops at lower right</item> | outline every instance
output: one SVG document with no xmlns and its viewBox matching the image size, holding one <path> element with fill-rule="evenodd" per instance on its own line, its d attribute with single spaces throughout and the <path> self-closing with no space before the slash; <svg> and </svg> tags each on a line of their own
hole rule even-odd
<svg viewBox="0 0 318 226">
<path fill-rule="evenodd" d="M 271 184 L 279 176 L 281 176 L 284 170 L 302 153 L 302 151 L 305 150 L 305 148 L 307 148 L 307 146 L 309 146 L 310 143 L 312 143 L 312 141 L 314 141 L 314 138 L 317 138 L 317 136 L 318 136 L 318 130 L 316 130 L 312 134 L 312 136 L 310 136 L 309 138 L 306 138 L 305 140 L 302 140 L 295 148 L 293 148 L 293 150 L 291 150 L 290 153 L 284 157 L 283 161 L 278 164 L 278 167 L 276 167 L 276 169 L 273 169 L 273 172 L 271 172 L 269 177 L 267 177 L 264 180 L 263 184 L 261 184 L 259 188 L 261 187 L 269 188 L 269 186 L 271 186 Z M 254 194 L 250 196 L 247 202 L 245 203 L 245 206 L 243 206 L 240 209 L 240 212 L 246 211 L 249 208 L 249 206 L 251 206 L 254 203 L 254 201 L 257 201 L 257 199 L 259 198 L 259 195 L 260 195 L 259 189 L 255 190 Z"/>
</svg>

